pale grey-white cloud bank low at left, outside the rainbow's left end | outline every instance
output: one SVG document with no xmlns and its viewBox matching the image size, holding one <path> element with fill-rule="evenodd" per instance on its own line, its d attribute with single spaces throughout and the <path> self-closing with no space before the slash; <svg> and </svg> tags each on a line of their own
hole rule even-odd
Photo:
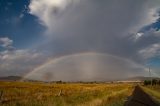
<svg viewBox="0 0 160 106">
<path fill-rule="evenodd" d="M 1 76 L 24 75 L 45 61 L 45 56 L 31 50 L 0 52 Z"/>
</svg>

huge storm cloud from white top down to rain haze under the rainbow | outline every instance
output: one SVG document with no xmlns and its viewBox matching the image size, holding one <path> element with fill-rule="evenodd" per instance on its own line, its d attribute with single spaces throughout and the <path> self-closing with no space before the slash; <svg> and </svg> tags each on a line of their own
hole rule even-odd
<svg viewBox="0 0 160 106">
<path fill-rule="evenodd" d="M 28 13 L 46 30 L 44 41 L 28 49 L 45 59 L 37 60 L 25 77 L 147 76 L 145 64 L 159 57 L 160 36 L 155 27 L 146 27 L 159 22 L 159 5 L 159 0 L 31 0 Z"/>
</svg>

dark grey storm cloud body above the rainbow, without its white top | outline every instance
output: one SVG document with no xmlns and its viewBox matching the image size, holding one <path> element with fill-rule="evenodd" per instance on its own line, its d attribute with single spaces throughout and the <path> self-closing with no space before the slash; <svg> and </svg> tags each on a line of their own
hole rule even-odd
<svg viewBox="0 0 160 106">
<path fill-rule="evenodd" d="M 151 9 L 146 8 L 147 3 L 146 0 L 79 1 L 64 10 L 60 19 L 50 20 L 51 40 L 42 48 L 48 47 L 58 55 L 96 51 L 136 59 L 143 42 L 134 44 L 130 35 L 152 23 L 152 19 L 145 18 Z"/>
</svg>

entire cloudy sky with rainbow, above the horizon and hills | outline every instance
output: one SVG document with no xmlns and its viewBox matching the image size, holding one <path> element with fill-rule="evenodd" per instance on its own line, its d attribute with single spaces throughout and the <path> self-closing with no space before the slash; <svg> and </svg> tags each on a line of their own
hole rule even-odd
<svg viewBox="0 0 160 106">
<path fill-rule="evenodd" d="M 0 76 L 160 76 L 159 0 L 0 0 Z"/>
</svg>

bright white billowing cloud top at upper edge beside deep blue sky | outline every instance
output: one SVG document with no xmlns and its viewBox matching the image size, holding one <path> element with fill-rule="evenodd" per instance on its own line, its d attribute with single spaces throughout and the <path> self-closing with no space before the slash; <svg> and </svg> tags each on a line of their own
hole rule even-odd
<svg viewBox="0 0 160 106">
<path fill-rule="evenodd" d="M 59 15 L 73 0 L 31 0 L 29 13 L 37 16 L 41 23 L 50 28 Z"/>
</svg>

